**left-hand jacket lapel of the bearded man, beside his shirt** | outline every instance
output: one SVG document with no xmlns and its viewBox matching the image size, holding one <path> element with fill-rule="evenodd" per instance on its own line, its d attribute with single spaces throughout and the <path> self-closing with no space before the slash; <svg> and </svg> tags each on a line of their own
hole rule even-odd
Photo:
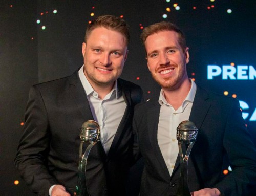
<svg viewBox="0 0 256 196">
<path fill-rule="evenodd" d="M 158 122 L 159 122 L 159 114 L 160 114 L 160 104 L 158 100 L 153 100 L 153 107 L 150 108 L 147 112 L 148 122 L 147 122 L 147 133 L 148 133 L 148 140 L 151 143 L 155 150 L 155 155 L 158 160 L 158 165 L 162 168 L 161 176 L 169 181 L 170 175 L 168 168 L 165 164 L 164 158 L 161 153 L 161 149 L 158 145 L 157 141 L 157 132 L 158 132 Z"/>
</svg>

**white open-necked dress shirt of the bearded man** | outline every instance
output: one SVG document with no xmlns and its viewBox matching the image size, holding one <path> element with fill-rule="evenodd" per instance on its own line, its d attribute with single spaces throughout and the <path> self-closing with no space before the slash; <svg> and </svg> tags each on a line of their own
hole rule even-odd
<svg viewBox="0 0 256 196">
<path fill-rule="evenodd" d="M 166 101 L 163 90 L 161 90 L 158 100 L 161 108 L 157 140 L 170 175 L 172 175 L 174 165 L 179 154 L 178 141 L 176 139 L 176 128 L 182 121 L 188 120 L 196 95 L 196 83 L 192 80 L 190 81 L 190 91 L 182 105 L 176 111 L 173 106 Z"/>
</svg>

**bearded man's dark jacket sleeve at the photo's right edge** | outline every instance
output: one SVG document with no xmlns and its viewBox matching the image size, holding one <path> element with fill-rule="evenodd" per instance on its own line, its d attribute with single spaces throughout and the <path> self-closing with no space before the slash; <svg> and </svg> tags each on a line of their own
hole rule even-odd
<svg viewBox="0 0 256 196">
<path fill-rule="evenodd" d="M 222 196 L 254 195 L 248 190 L 256 186 L 256 149 L 242 118 L 238 100 L 229 111 L 223 145 L 232 172 L 216 185 Z"/>
</svg>

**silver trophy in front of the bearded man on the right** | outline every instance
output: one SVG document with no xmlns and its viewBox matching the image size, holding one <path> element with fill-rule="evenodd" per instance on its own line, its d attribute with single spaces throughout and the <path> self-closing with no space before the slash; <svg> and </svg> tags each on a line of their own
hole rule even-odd
<svg viewBox="0 0 256 196">
<path fill-rule="evenodd" d="M 177 127 L 177 140 L 179 145 L 179 155 L 180 155 L 180 182 L 178 187 L 178 192 L 176 196 L 191 196 L 191 193 L 187 184 L 187 166 L 188 157 L 190 151 L 197 139 L 198 128 L 195 126 L 194 122 L 189 120 L 182 121 Z M 182 146 L 188 144 L 187 150 L 183 154 Z"/>
</svg>

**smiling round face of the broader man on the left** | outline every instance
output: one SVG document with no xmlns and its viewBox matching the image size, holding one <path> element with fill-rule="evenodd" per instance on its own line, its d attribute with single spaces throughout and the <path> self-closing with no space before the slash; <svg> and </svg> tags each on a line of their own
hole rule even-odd
<svg viewBox="0 0 256 196">
<path fill-rule="evenodd" d="M 94 89 L 112 89 L 127 58 L 127 40 L 120 32 L 98 27 L 82 45 L 84 74 Z"/>
</svg>

